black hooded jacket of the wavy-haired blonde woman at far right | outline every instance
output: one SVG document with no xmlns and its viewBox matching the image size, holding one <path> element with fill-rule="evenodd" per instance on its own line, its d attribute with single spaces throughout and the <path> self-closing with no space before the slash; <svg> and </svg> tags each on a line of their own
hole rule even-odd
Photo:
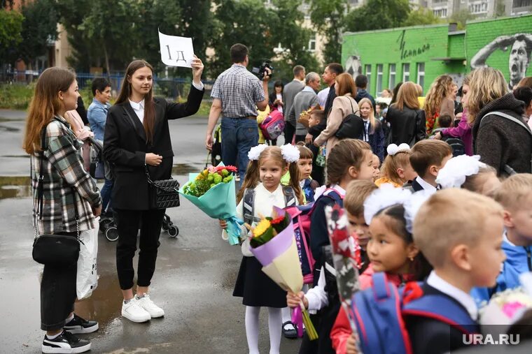
<svg viewBox="0 0 532 354">
<path fill-rule="evenodd" d="M 491 101 L 480 110 L 472 126 L 473 149 L 480 161 L 493 166 L 500 175 L 509 165 L 517 173 L 531 173 L 532 135 L 510 119 L 489 112 L 503 112 L 523 124 L 524 102 L 512 93 Z M 482 122 L 482 127 L 480 126 Z"/>
</svg>

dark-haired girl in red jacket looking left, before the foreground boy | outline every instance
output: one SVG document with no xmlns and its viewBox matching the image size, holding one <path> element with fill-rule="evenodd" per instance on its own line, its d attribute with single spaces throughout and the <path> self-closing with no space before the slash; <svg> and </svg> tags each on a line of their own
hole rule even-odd
<svg viewBox="0 0 532 354">
<path fill-rule="evenodd" d="M 377 191 L 376 191 L 377 192 Z M 364 203 L 371 202 L 371 196 Z M 414 244 L 407 230 L 405 207 L 395 204 L 381 209 L 370 223 L 370 242 L 367 244 L 370 266 L 360 275 L 360 289 L 371 286 L 374 272 L 386 272 L 388 281 L 400 286 L 406 281 L 422 281 L 431 267 Z M 330 337 L 336 353 L 356 353 L 349 319 L 340 309 Z"/>
</svg>

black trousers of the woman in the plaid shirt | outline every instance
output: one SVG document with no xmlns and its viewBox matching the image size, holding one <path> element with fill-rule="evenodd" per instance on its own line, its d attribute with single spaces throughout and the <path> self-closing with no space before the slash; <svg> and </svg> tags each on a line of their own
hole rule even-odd
<svg viewBox="0 0 532 354">
<path fill-rule="evenodd" d="M 58 233 L 76 237 L 76 233 Z M 73 311 L 76 301 L 77 263 L 68 267 L 45 265 L 41 280 L 41 330 L 55 331 Z"/>
</svg>

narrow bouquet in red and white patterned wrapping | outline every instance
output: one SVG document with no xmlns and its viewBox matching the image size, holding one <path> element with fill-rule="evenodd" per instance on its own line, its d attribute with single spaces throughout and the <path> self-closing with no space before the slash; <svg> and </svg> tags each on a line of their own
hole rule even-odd
<svg viewBox="0 0 532 354">
<path fill-rule="evenodd" d="M 353 296 L 360 290 L 360 283 L 358 283 L 358 269 L 362 264 L 360 246 L 356 238 L 347 230 L 347 216 L 342 207 L 339 205 L 325 207 L 325 217 L 327 218 L 332 262 L 336 270 L 338 295 L 349 318 L 351 330 L 356 338 L 357 351 L 360 353 L 358 330 L 353 320 L 353 311 L 351 311 Z"/>
</svg>

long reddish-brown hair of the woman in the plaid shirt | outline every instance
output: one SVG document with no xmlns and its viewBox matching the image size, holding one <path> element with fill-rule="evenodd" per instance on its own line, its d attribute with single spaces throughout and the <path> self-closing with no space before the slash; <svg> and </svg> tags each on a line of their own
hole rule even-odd
<svg viewBox="0 0 532 354">
<path fill-rule="evenodd" d="M 74 80 L 74 73 L 55 67 L 46 69 L 39 76 L 26 120 L 23 148 L 28 154 L 41 150 L 41 131 L 63 108 L 57 94 L 68 91 Z"/>
</svg>

